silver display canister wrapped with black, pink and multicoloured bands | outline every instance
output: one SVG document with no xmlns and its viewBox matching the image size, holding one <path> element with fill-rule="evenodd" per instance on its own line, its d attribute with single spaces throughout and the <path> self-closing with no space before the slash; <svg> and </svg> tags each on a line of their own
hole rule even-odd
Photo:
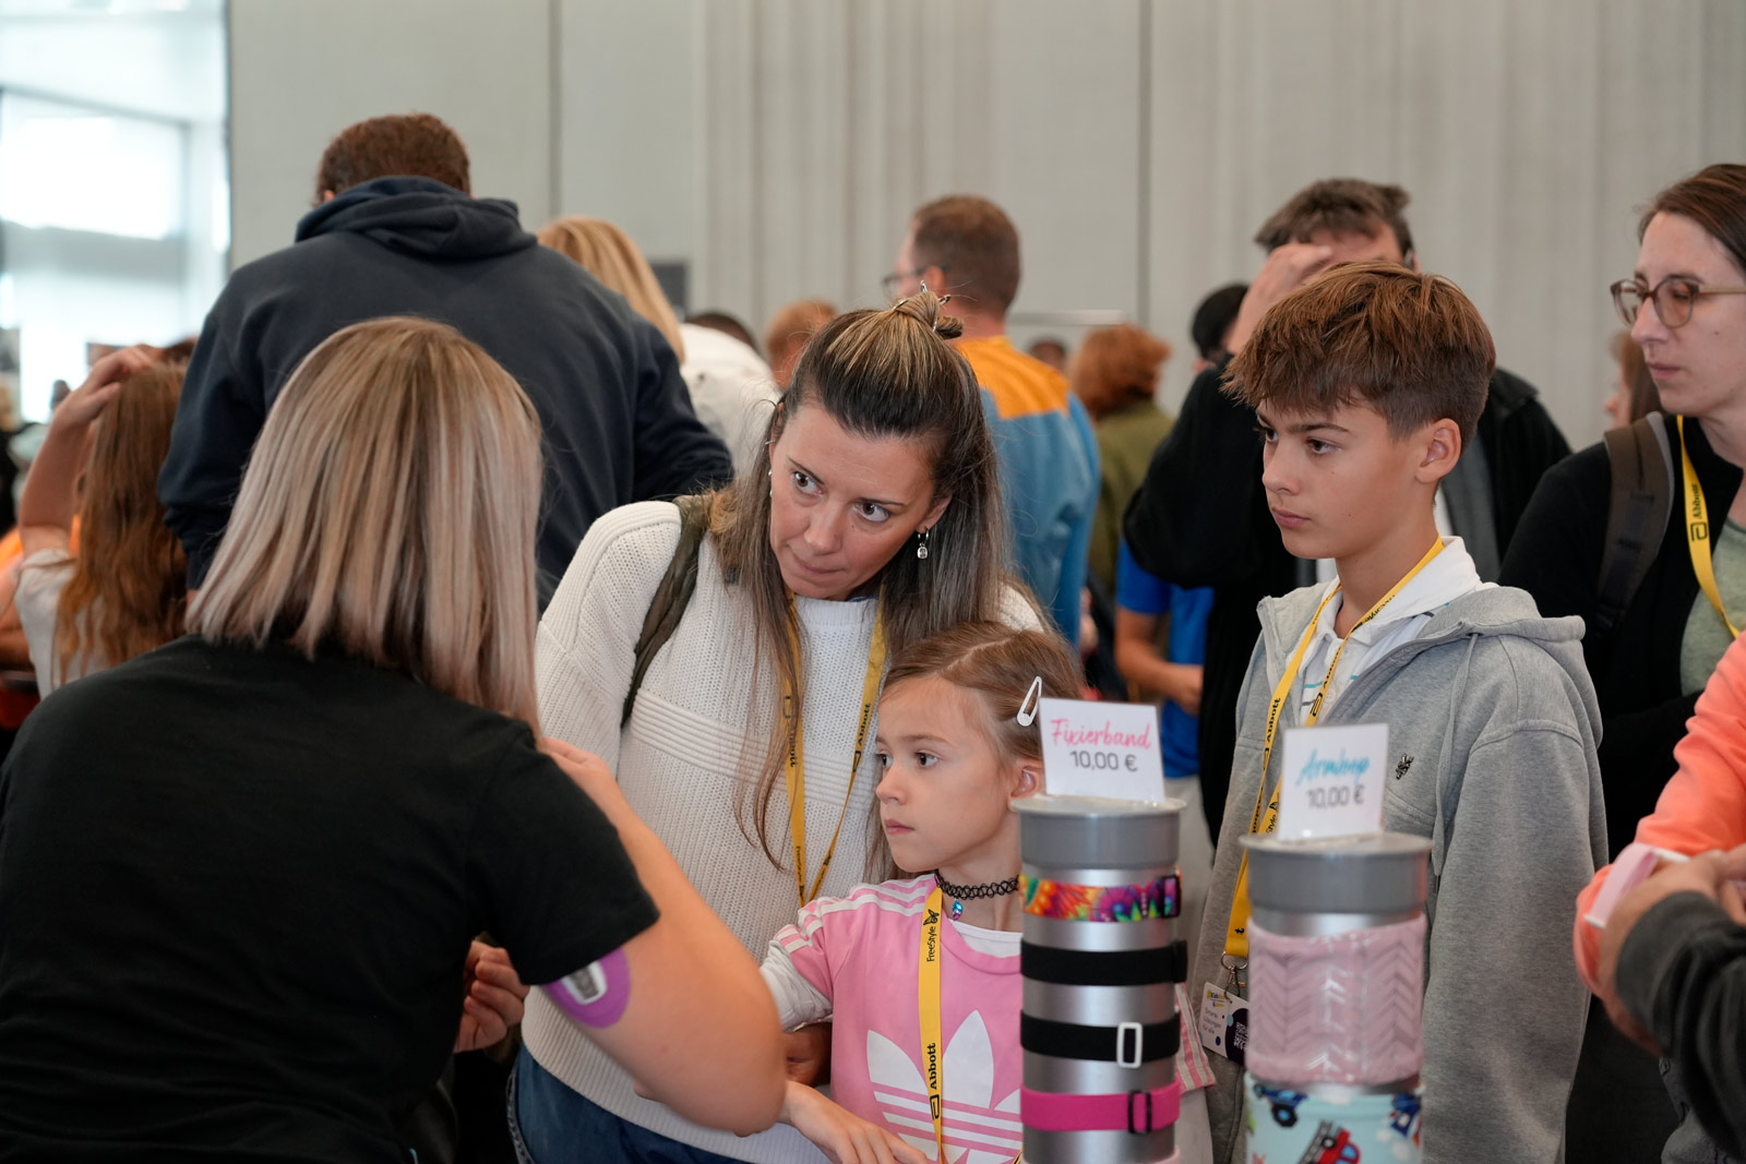
<svg viewBox="0 0 1746 1164">
<path fill-rule="evenodd" d="M 1182 801 L 1018 801 L 1025 1159 L 1175 1159 Z"/>
</svg>

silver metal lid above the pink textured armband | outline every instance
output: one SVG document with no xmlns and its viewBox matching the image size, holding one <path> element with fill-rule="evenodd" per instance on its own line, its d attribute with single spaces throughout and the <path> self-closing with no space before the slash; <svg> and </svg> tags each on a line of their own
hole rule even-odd
<svg viewBox="0 0 1746 1164">
<path fill-rule="evenodd" d="M 1406 832 L 1245 836 L 1248 900 L 1268 913 L 1400 914 L 1425 907 L 1430 841 Z"/>
</svg>

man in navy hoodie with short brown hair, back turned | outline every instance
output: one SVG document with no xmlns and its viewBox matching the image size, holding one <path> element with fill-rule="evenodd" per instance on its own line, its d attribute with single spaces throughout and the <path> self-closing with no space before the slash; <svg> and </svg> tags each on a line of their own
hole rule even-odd
<svg viewBox="0 0 1746 1164">
<path fill-rule="evenodd" d="M 328 145 L 297 241 L 230 276 L 194 349 L 157 490 L 206 578 L 243 466 L 297 363 L 377 316 L 452 325 L 540 414 L 540 604 L 595 517 L 733 475 L 691 410 L 679 361 L 620 295 L 468 194 L 466 147 L 430 115 L 375 117 Z"/>
</svg>

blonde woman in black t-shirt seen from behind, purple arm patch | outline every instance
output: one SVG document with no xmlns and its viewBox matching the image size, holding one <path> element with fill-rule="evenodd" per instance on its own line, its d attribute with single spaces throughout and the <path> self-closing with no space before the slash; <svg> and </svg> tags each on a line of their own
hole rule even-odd
<svg viewBox="0 0 1746 1164">
<path fill-rule="evenodd" d="M 0 1143 L 403 1161 L 520 979 L 691 1119 L 775 1119 L 751 956 L 597 759 L 536 743 L 540 475 L 449 326 L 299 365 L 194 633 L 47 700 L 0 770 Z"/>
</svg>

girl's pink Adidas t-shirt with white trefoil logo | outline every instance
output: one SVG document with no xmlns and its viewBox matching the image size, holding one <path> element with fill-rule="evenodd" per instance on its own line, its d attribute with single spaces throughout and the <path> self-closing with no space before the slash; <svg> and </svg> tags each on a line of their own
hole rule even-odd
<svg viewBox="0 0 1746 1164">
<path fill-rule="evenodd" d="M 859 885 L 821 897 L 770 942 L 763 974 L 782 1026 L 835 1019 L 831 1098 L 934 1155 L 917 1012 L 922 907 L 934 880 Z M 1018 1089 L 1020 934 L 941 927 L 941 1065 L 946 1157 L 1011 1164 L 1023 1147 Z"/>
</svg>

